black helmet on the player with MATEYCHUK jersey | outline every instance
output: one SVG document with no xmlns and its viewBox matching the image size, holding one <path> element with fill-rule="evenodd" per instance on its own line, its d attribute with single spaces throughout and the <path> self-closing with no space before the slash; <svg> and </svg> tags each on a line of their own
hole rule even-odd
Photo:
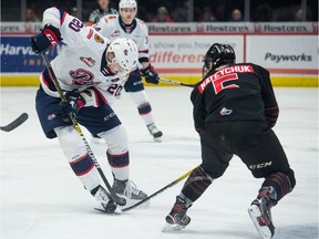
<svg viewBox="0 0 319 239">
<path fill-rule="evenodd" d="M 220 65 L 225 64 L 234 64 L 236 61 L 236 54 L 231 45 L 229 44 L 213 44 L 209 50 L 206 52 L 204 56 L 204 66 L 203 72 L 206 69 L 209 69 L 210 63 L 213 63 L 213 67 L 210 70 L 215 70 Z"/>
</svg>

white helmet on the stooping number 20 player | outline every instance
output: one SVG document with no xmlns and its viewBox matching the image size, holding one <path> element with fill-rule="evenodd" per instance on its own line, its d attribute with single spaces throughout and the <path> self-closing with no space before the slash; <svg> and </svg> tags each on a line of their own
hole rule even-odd
<svg viewBox="0 0 319 239">
<path fill-rule="evenodd" d="M 117 38 L 109 45 L 107 52 L 113 52 L 115 58 L 112 64 L 119 63 L 126 71 L 132 71 L 137 66 L 138 50 L 131 39 Z"/>
</svg>

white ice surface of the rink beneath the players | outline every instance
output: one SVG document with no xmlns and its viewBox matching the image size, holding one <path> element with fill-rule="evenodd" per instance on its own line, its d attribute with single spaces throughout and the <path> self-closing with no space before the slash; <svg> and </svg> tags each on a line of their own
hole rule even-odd
<svg viewBox="0 0 319 239">
<path fill-rule="evenodd" d="M 163 142 L 155 143 L 123 93 L 114 111 L 127 129 L 131 179 L 148 195 L 200 163 L 188 87 L 146 87 Z M 35 87 L 1 89 L 1 126 L 21 113 L 29 119 L 1 136 L 1 239 L 258 239 L 247 212 L 263 179 L 238 157 L 188 210 L 187 228 L 164 233 L 165 216 L 185 180 L 151 199 L 151 206 L 105 215 L 83 189 L 58 139 L 47 139 L 34 108 Z M 295 190 L 272 208 L 275 239 L 318 239 L 318 89 L 276 87 L 275 132 L 296 173 Z M 84 129 L 83 129 L 84 131 Z M 90 139 L 86 131 L 86 138 Z M 90 141 L 89 141 L 90 142 Z M 91 144 L 112 183 L 106 145 Z"/>
</svg>

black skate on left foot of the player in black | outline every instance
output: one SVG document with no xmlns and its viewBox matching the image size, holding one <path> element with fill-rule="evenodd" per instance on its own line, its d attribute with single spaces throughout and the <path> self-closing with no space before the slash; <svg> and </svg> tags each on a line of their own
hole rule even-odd
<svg viewBox="0 0 319 239">
<path fill-rule="evenodd" d="M 192 205 L 187 207 L 186 200 L 177 196 L 174 207 L 165 218 L 167 224 L 164 226 L 162 231 L 169 232 L 184 229 L 191 222 L 191 218 L 186 215 L 187 209 L 191 206 Z"/>
</svg>

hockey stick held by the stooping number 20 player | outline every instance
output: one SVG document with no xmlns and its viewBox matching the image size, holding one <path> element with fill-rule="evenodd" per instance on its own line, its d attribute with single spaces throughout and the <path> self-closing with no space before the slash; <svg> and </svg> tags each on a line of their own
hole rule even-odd
<svg viewBox="0 0 319 239">
<path fill-rule="evenodd" d="M 60 86 L 60 83 L 59 83 L 59 81 L 58 81 L 58 79 L 56 79 L 56 76 L 55 76 L 55 74 L 54 74 L 54 71 L 53 71 L 53 69 L 52 69 L 52 66 L 51 66 L 51 63 L 50 63 L 47 54 L 45 54 L 44 52 L 42 52 L 41 55 L 42 55 L 42 58 L 43 58 L 43 60 L 44 60 L 44 62 L 45 62 L 45 65 L 47 65 L 47 69 L 48 69 L 48 71 L 49 71 L 50 75 L 51 75 L 52 79 L 53 79 L 54 86 L 56 87 L 58 93 L 59 93 L 61 100 L 64 101 L 64 102 L 68 102 L 68 100 L 66 100 L 65 95 L 63 94 L 63 91 L 62 91 L 62 89 L 61 89 L 61 86 Z M 86 138 L 84 137 L 83 132 L 81 131 L 81 127 L 80 127 L 76 118 L 75 118 L 72 114 L 70 114 L 70 118 L 71 118 L 71 121 L 72 121 L 72 123 L 73 123 L 73 125 L 74 125 L 74 127 L 75 127 L 75 131 L 79 133 L 79 135 L 81 136 L 82 141 L 84 142 L 84 145 L 85 145 L 85 147 L 86 147 L 86 150 L 88 150 L 90 157 L 92 158 L 92 160 L 93 160 L 93 163 L 94 163 L 94 166 L 95 166 L 95 168 L 97 169 L 101 178 L 103 179 L 106 188 L 109 189 L 112 199 L 115 201 L 115 204 L 117 204 L 117 205 L 120 205 L 120 206 L 126 205 L 126 199 L 119 197 L 119 196 L 114 193 L 114 190 L 113 190 L 113 188 L 111 187 L 110 183 L 107 181 L 107 179 L 106 179 L 106 177 L 105 177 L 105 175 L 104 175 L 104 173 L 103 173 L 103 170 L 102 170 L 102 168 L 101 168 L 101 166 L 100 166 L 100 164 L 99 164 L 95 155 L 93 154 L 93 152 L 92 152 L 92 149 L 91 149 L 91 147 L 90 147 Z"/>
</svg>

